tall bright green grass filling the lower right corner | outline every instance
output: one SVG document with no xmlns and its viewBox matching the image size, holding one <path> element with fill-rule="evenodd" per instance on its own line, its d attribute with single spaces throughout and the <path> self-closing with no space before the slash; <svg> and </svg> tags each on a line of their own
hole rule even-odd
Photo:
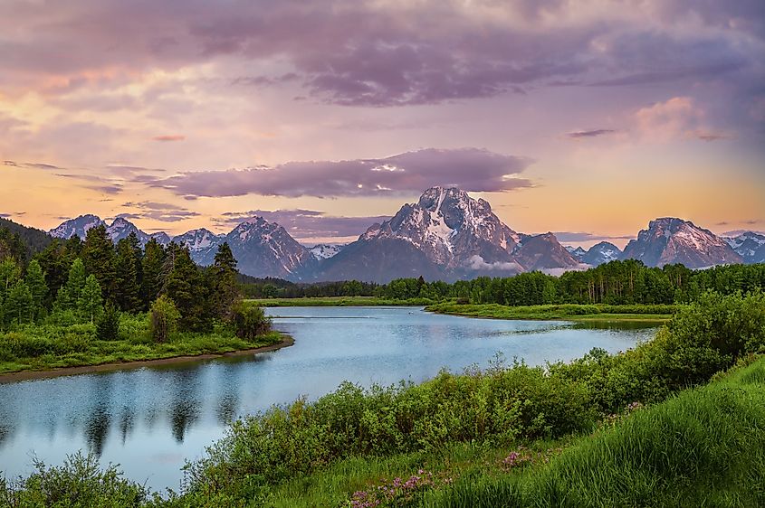
<svg viewBox="0 0 765 508">
<path fill-rule="evenodd" d="M 465 477 L 422 506 L 765 505 L 765 359 L 636 411 L 549 466 Z"/>
</svg>

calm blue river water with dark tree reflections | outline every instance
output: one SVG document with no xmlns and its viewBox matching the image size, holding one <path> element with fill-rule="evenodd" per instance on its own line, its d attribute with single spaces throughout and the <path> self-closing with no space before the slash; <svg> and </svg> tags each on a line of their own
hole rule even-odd
<svg viewBox="0 0 765 508">
<path fill-rule="evenodd" d="M 498 352 L 531 364 L 569 361 L 593 347 L 623 351 L 654 334 L 412 307 L 269 314 L 281 316 L 275 327 L 292 334 L 295 345 L 246 358 L 0 384 L 0 471 L 24 475 L 33 456 L 58 465 L 82 449 L 155 489 L 177 488 L 184 461 L 222 437 L 232 419 L 300 395 L 315 399 L 340 381 L 423 381 L 442 367 L 485 367 Z"/>
</svg>

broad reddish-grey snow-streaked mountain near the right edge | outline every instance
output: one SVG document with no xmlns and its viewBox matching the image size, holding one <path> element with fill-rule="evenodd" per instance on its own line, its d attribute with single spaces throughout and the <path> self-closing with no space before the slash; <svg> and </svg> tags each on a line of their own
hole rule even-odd
<svg viewBox="0 0 765 508">
<path fill-rule="evenodd" d="M 691 221 L 674 217 L 656 219 L 627 244 L 622 259 L 639 259 L 649 267 L 683 263 L 688 268 L 741 263 L 730 245 Z"/>
</svg>

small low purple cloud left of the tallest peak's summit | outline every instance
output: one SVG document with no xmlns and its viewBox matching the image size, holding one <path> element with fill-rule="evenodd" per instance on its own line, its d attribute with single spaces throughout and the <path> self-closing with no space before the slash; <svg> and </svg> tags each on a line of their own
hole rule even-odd
<svg viewBox="0 0 765 508">
<path fill-rule="evenodd" d="M 250 210 L 247 212 L 225 212 L 222 217 L 215 218 L 213 221 L 217 225 L 233 228 L 240 222 L 254 216 L 279 223 L 297 240 L 357 237 L 373 223 L 390 219 L 387 216 L 344 217 L 327 215 L 326 212 L 314 210 L 276 210 L 273 212 Z"/>
</svg>

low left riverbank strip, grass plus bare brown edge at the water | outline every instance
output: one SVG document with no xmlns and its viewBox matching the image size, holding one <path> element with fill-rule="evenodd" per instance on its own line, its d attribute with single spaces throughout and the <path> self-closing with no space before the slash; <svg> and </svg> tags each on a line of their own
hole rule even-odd
<svg viewBox="0 0 765 508">
<path fill-rule="evenodd" d="M 181 336 L 170 343 L 156 344 L 93 341 L 88 351 L 80 353 L 60 357 L 45 353 L 0 362 L 0 383 L 246 356 L 275 351 L 293 343 L 291 336 L 280 332 L 270 332 L 255 341 L 220 334 Z"/>
</svg>

